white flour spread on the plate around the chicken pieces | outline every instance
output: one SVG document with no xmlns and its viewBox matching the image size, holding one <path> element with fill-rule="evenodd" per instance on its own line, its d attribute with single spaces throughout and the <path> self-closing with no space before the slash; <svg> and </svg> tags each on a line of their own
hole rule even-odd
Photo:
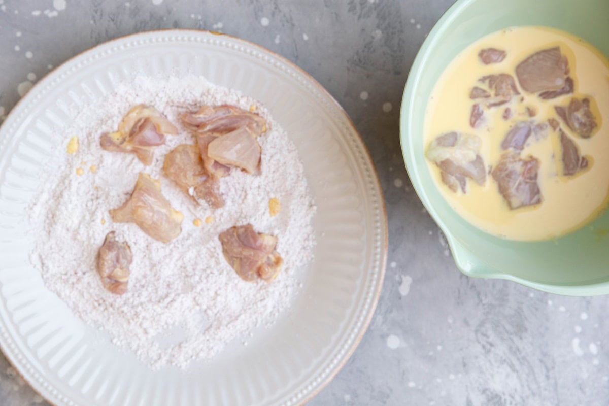
<svg viewBox="0 0 609 406">
<path fill-rule="evenodd" d="M 167 136 L 166 145 L 155 150 L 148 167 L 135 155 L 99 147 L 99 136 L 115 131 L 139 103 L 156 107 L 180 128 L 179 135 Z M 269 131 L 258 138 L 261 175 L 233 169 L 220 180 L 226 205 L 213 210 L 178 189 L 163 176 L 162 167 L 169 150 L 195 142 L 178 114 L 224 103 L 244 109 L 255 105 Z M 244 340 L 254 327 L 272 324 L 290 306 L 300 286 L 296 271 L 312 256 L 314 206 L 294 144 L 263 106 L 201 77 L 136 77 L 102 103 L 74 107 L 72 118 L 69 128 L 56 129 L 65 143 L 55 152 L 57 161 L 41 174 L 46 177 L 43 189 L 29 215 L 35 239 L 32 263 L 76 315 L 107 331 L 117 346 L 152 368 L 185 368 L 192 360 L 210 359 L 229 341 Z M 71 136 L 80 139 L 76 155 L 65 150 Z M 163 195 L 184 214 L 180 236 L 169 243 L 152 239 L 133 223 L 113 223 L 108 215 L 108 209 L 127 200 L 139 172 L 160 178 Z M 280 200 L 281 211 L 271 217 L 273 197 Z M 212 223 L 205 222 L 209 216 Z M 203 220 L 198 228 L 193 225 L 197 218 Z M 222 255 L 218 235 L 246 223 L 278 237 L 284 267 L 270 284 L 242 281 Z M 122 296 L 102 287 L 95 268 L 97 250 L 113 230 L 133 253 L 128 291 Z"/>
</svg>

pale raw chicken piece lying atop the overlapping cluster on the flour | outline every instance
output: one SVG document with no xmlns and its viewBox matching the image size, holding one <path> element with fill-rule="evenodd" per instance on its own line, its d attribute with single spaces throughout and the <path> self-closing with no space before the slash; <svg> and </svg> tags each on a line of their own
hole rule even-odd
<svg viewBox="0 0 609 406">
<path fill-rule="evenodd" d="M 260 163 L 260 145 L 245 128 L 239 128 L 209 142 L 207 154 L 220 164 L 236 166 L 247 173 L 255 172 Z"/>
</svg>

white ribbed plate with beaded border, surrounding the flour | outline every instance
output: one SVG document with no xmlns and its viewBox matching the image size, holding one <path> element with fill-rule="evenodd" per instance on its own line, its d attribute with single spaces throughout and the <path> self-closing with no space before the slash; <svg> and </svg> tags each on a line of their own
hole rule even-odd
<svg viewBox="0 0 609 406">
<path fill-rule="evenodd" d="M 247 347 L 211 363 L 151 371 L 116 349 L 29 265 L 25 209 L 51 128 L 129 73 L 200 74 L 261 100 L 294 140 L 317 203 L 315 259 L 293 309 Z M 68 137 L 68 135 L 66 135 Z M 139 33 L 94 47 L 41 80 L 0 128 L 0 345 L 56 405 L 294 405 L 347 361 L 374 312 L 387 219 L 370 156 L 347 114 L 308 74 L 260 46 L 193 30 Z"/>
</svg>

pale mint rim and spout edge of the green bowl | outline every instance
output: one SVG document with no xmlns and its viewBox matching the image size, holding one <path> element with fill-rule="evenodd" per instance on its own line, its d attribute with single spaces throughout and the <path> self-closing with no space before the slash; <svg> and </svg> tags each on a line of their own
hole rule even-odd
<svg viewBox="0 0 609 406">
<path fill-rule="evenodd" d="M 445 13 L 438 19 L 434 27 L 429 32 L 428 36 L 423 41 L 414 62 L 410 68 L 406 85 L 404 86 L 404 93 L 402 97 L 402 103 L 400 107 L 400 146 L 402 150 L 402 156 L 404 164 L 406 166 L 406 172 L 410 178 L 410 182 L 414 187 L 415 192 L 423 203 L 424 208 L 429 212 L 432 219 L 442 230 L 446 236 L 449 248 L 452 253 L 453 260 L 463 274 L 474 278 L 485 278 L 485 279 L 505 279 L 507 281 L 516 282 L 520 285 L 530 287 L 533 289 L 541 290 L 547 293 L 554 293 L 557 295 L 566 296 L 597 296 L 606 295 L 609 293 L 609 281 L 590 283 L 590 284 L 577 284 L 577 285 L 558 285 L 558 284 L 547 284 L 544 282 L 530 281 L 518 276 L 510 275 L 499 270 L 481 271 L 487 268 L 475 253 L 468 248 L 464 247 L 457 238 L 451 233 L 446 223 L 443 221 L 440 214 L 438 214 L 432 203 L 429 195 L 427 194 L 423 183 L 420 180 L 420 170 L 414 165 L 415 151 L 412 148 L 412 138 L 410 134 L 412 131 L 412 107 L 414 105 L 414 97 L 418 88 L 418 83 L 421 77 L 424 75 L 424 66 L 426 65 L 429 55 L 434 49 L 438 42 L 438 35 L 448 29 L 452 21 L 458 16 L 464 9 L 470 7 L 471 4 L 479 0 L 457 0 L 451 7 L 446 10 Z M 471 261 L 460 261 L 460 256 L 467 256 Z"/>
</svg>

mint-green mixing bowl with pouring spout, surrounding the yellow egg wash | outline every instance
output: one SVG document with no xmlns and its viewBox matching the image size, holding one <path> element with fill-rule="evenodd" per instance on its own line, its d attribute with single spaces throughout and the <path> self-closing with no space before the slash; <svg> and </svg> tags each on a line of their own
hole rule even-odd
<svg viewBox="0 0 609 406">
<path fill-rule="evenodd" d="M 458 0 L 440 18 L 412 65 L 400 112 L 406 169 L 429 214 L 468 276 L 509 279 L 572 296 L 609 293 L 609 211 L 555 240 L 518 242 L 485 233 L 452 209 L 432 180 L 423 152 L 427 100 L 445 66 L 466 46 L 513 26 L 548 26 L 609 55 L 609 0 Z"/>
</svg>

